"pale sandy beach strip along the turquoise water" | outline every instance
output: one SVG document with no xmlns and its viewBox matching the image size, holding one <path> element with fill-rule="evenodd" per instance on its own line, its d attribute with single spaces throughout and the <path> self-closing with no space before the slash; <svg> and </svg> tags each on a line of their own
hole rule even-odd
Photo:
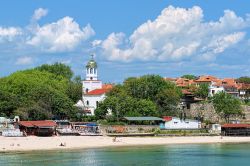
<svg viewBox="0 0 250 166">
<path fill-rule="evenodd" d="M 250 137 L 196 136 L 196 137 L 112 137 L 61 136 L 61 137 L 0 137 L 0 152 L 85 149 L 115 146 L 203 144 L 203 143 L 250 143 Z M 60 144 L 65 146 L 60 146 Z"/>
</svg>

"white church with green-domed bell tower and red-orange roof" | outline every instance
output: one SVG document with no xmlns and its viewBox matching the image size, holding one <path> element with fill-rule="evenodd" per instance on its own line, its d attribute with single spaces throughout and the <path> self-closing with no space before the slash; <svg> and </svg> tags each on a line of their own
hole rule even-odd
<svg viewBox="0 0 250 166">
<path fill-rule="evenodd" d="M 93 55 L 88 61 L 85 70 L 85 79 L 82 81 L 82 100 L 75 105 L 85 115 L 95 115 L 95 109 L 106 97 L 106 93 L 113 87 L 112 84 L 102 84 L 98 79 L 97 63 Z"/>
</svg>

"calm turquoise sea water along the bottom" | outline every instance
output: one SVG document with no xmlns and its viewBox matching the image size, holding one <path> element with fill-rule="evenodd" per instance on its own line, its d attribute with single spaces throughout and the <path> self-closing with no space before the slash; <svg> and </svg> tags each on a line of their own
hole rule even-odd
<svg viewBox="0 0 250 166">
<path fill-rule="evenodd" d="M 11 152 L 0 153 L 0 165 L 242 166 L 250 165 L 250 144 L 192 144 Z"/>
</svg>

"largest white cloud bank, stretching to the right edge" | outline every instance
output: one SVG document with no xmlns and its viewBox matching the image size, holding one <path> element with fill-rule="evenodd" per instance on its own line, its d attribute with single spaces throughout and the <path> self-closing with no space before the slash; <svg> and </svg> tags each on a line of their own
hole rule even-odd
<svg viewBox="0 0 250 166">
<path fill-rule="evenodd" d="M 129 38 L 123 33 L 111 33 L 101 46 L 109 60 L 211 60 L 241 41 L 249 26 L 248 17 L 243 19 L 230 10 L 225 10 L 216 22 L 204 22 L 198 6 L 169 6 L 155 20 L 140 25 Z"/>
</svg>

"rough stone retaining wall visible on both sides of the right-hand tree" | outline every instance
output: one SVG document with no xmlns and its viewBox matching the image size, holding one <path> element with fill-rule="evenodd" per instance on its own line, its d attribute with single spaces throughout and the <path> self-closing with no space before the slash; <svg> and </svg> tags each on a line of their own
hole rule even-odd
<svg viewBox="0 0 250 166">
<path fill-rule="evenodd" d="M 239 118 L 242 123 L 250 123 L 250 106 L 242 106 L 245 118 Z M 212 103 L 194 103 L 191 104 L 190 109 L 185 110 L 187 117 L 203 117 L 204 121 L 210 121 L 212 123 L 224 122 L 219 115 L 215 112 Z"/>
</svg>

